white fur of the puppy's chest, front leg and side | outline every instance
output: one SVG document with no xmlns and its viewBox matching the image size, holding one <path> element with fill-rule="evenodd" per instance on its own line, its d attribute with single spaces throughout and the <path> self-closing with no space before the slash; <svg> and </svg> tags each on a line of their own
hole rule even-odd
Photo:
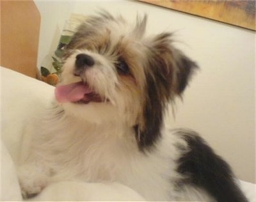
<svg viewBox="0 0 256 202">
<path fill-rule="evenodd" d="M 30 154 L 20 168 L 23 193 L 38 193 L 51 182 L 79 179 L 123 183 L 152 201 L 202 197 L 191 187 L 177 192 L 170 183 L 169 179 L 182 178 L 175 171 L 175 160 L 180 153 L 173 144 L 186 146 L 173 132 L 164 132 L 155 152 L 141 153 L 128 128 L 99 127 L 65 113 L 56 117 L 58 110 L 60 107 L 54 109 L 53 114 L 47 112 L 41 116 L 40 122 L 33 125 L 31 146 L 22 146 L 31 149 L 25 152 Z M 200 197 L 194 198 L 195 193 Z"/>
</svg>

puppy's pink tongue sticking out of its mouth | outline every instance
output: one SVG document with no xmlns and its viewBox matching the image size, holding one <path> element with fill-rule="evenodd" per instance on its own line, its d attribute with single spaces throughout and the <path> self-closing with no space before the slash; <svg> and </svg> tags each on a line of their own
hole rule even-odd
<svg viewBox="0 0 256 202">
<path fill-rule="evenodd" d="M 55 88 L 56 100 L 60 103 L 63 102 L 77 102 L 84 98 L 86 93 L 91 93 L 92 90 L 86 86 L 83 82 L 76 82 L 73 84 L 67 84 L 57 86 Z"/>
</svg>

